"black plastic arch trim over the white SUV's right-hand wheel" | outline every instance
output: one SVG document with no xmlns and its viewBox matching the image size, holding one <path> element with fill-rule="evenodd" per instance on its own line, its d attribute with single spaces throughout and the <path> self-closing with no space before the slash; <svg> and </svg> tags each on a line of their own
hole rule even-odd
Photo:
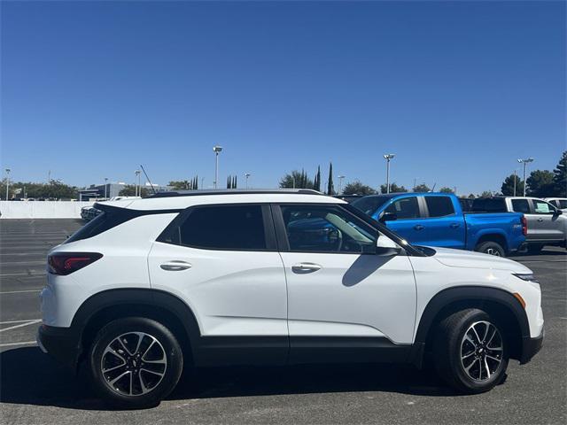
<svg viewBox="0 0 567 425">
<path fill-rule="evenodd" d="M 465 308 L 478 308 L 492 314 L 504 327 L 511 343 L 511 358 L 522 358 L 522 341 L 530 337 L 524 307 L 511 293 L 485 286 L 462 286 L 440 291 L 425 306 L 417 325 L 412 363 L 423 364 L 423 356 L 431 347 L 431 336 L 439 321 Z"/>
</svg>

